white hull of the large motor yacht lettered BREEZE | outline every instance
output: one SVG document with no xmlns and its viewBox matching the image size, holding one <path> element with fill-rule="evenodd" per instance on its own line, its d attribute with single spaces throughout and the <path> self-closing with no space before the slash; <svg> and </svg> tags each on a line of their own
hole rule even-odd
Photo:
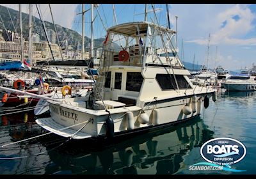
<svg viewBox="0 0 256 179">
<path fill-rule="evenodd" d="M 208 93 L 208 95 L 210 97 L 212 93 Z M 122 136 L 143 130 L 147 131 L 154 128 L 157 129 L 165 125 L 170 126 L 195 118 L 200 115 L 204 107 L 204 96 L 205 94 L 201 94 L 196 97 L 196 112 L 191 114 L 185 114 L 182 112 L 182 109 L 187 103 L 189 103 L 189 107 L 191 107 L 192 95 L 186 98 L 154 100 L 145 104 L 147 107 L 143 107 L 142 109 L 136 106 L 108 109 L 114 123 L 114 136 Z M 106 137 L 106 120 L 109 118 L 109 114 L 105 110 L 95 111 L 84 109 L 83 105 L 85 104 L 70 107 L 70 104 L 71 102 L 67 102 L 67 104 L 49 102 L 51 118 L 41 118 L 36 120 L 36 123 L 42 128 L 63 137 L 72 137 L 74 139 Z M 198 105 L 200 105 L 200 107 L 198 107 Z M 159 118 L 157 123 L 154 122 L 154 116 L 156 115 L 153 114 L 153 111 L 156 109 L 158 110 Z M 134 128 L 129 128 L 128 126 L 128 112 L 132 113 L 133 118 L 131 120 Z M 144 113 L 143 116 L 148 117 L 147 122 L 141 123 L 141 113 Z"/>
</svg>

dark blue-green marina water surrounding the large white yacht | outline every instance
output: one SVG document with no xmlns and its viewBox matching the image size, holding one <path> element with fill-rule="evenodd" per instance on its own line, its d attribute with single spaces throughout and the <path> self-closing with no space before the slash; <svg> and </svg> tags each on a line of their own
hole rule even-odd
<svg viewBox="0 0 256 179">
<path fill-rule="evenodd" d="M 47 134 L 5 146 L 0 148 L 0 173 L 237 174 L 189 170 L 193 164 L 206 162 L 200 155 L 202 144 L 230 137 L 246 147 L 246 156 L 232 168 L 246 170 L 238 174 L 255 174 L 256 92 L 224 91 L 218 91 L 218 100 L 210 100 L 198 118 L 118 143 L 98 145 Z M 35 123 L 33 113 L 1 116 L 0 126 L 1 145 L 47 133 Z"/>
</svg>

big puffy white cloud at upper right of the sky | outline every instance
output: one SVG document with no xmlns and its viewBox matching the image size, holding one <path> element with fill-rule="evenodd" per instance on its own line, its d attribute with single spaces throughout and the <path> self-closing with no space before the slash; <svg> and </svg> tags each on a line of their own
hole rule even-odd
<svg viewBox="0 0 256 179">
<path fill-rule="evenodd" d="M 211 35 L 211 44 L 256 45 L 256 38 L 243 38 L 255 27 L 252 24 L 253 20 L 255 20 L 255 14 L 250 11 L 248 6 L 240 6 L 239 4 L 218 13 L 216 22 L 218 22 L 219 27 Z M 186 42 L 206 45 L 208 39 L 199 38 Z"/>
</svg>

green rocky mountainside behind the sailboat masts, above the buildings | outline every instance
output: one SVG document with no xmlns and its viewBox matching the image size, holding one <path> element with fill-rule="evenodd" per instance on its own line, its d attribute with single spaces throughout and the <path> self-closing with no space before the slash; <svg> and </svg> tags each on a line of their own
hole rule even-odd
<svg viewBox="0 0 256 179">
<path fill-rule="evenodd" d="M 15 26 L 17 33 L 20 33 L 19 12 L 11 8 L 8 8 L 8 10 L 12 17 L 13 24 Z M 8 13 L 8 10 L 5 6 L 0 5 L 0 15 L 3 19 L 4 26 L 6 27 L 6 29 L 10 31 L 15 31 L 12 24 L 12 20 Z M 32 19 L 33 19 L 32 33 L 37 33 L 38 35 L 40 35 L 41 40 L 46 40 L 41 20 L 36 18 L 35 16 L 33 16 Z M 44 23 L 47 29 L 52 29 L 54 31 L 54 25 L 51 22 L 44 21 Z M 0 29 L 4 29 L 4 26 L 2 22 L 0 22 Z M 29 32 L 28 26 L 29 26 L 29 15 L 27 13 L 22 13 L 22 32 L 26 40 L 28 40 L 28 32 Z M 60 26 L 58 24 L 56 24 L 56 29 L 57 29 L 58 37 L 60 41 L 67 40 L 68 45 L 71 45 L 74 49 L 77 49 L 77 45 L 81 44 L 82 36 L 79 35 L 79 33 L 77 33 L 76 31 L 72 29 L 68 29 L 67 27 Z M 87 36 L 84 36 L 84 47 L 88 47 L 88 43 L 90 43 L 90 41 L 91 41 L 90 38 L 88 38 Z M 104 38 L 95 39 L 94 40 L 95 47 L 100 47 L 103 41 L 104 41 Z"/>
</svg>

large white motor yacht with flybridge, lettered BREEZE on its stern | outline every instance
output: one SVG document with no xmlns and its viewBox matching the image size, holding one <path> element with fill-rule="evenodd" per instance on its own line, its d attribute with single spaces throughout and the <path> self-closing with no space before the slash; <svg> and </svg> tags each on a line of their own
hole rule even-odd
<svg viewBox="0 0 256 179">
<path fill-rule="evenodd" d="M 191 83 L 172 55 L 175 33 L 151 22 L 110 27 L 93 90 L 86 97 L 49 100 L 51 117 L 36 123 L 62 137 L 113 139 L 200 115 L 216 93 Z"/>
</svg>

